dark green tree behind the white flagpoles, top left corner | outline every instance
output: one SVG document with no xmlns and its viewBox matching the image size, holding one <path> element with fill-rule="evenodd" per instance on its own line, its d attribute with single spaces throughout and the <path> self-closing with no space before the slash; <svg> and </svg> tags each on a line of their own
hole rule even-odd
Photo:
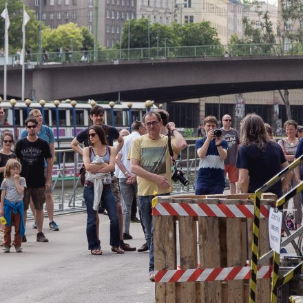
<svg viewBox="0 0 303 303">
<path fill-rule="evenodd" d="M 8 30 L 10 53 L 22 48 L 22 21 L 23 21 L 23 2 L 21 0 L 7 1 L 0 0 L 0 12 L 3 12 L 8 2 L 8 15 L 10 17 L 10 28 Z M 39 45 L 39 21 L 33 10 L 25 6 L 25 10 L 30 16 L 30 21 L 26 25 L 26 46 L 31 50 L 38 50 Z M 4 19 L 0 17 L 0 45 L 4 45 Z"/>
</svg>

